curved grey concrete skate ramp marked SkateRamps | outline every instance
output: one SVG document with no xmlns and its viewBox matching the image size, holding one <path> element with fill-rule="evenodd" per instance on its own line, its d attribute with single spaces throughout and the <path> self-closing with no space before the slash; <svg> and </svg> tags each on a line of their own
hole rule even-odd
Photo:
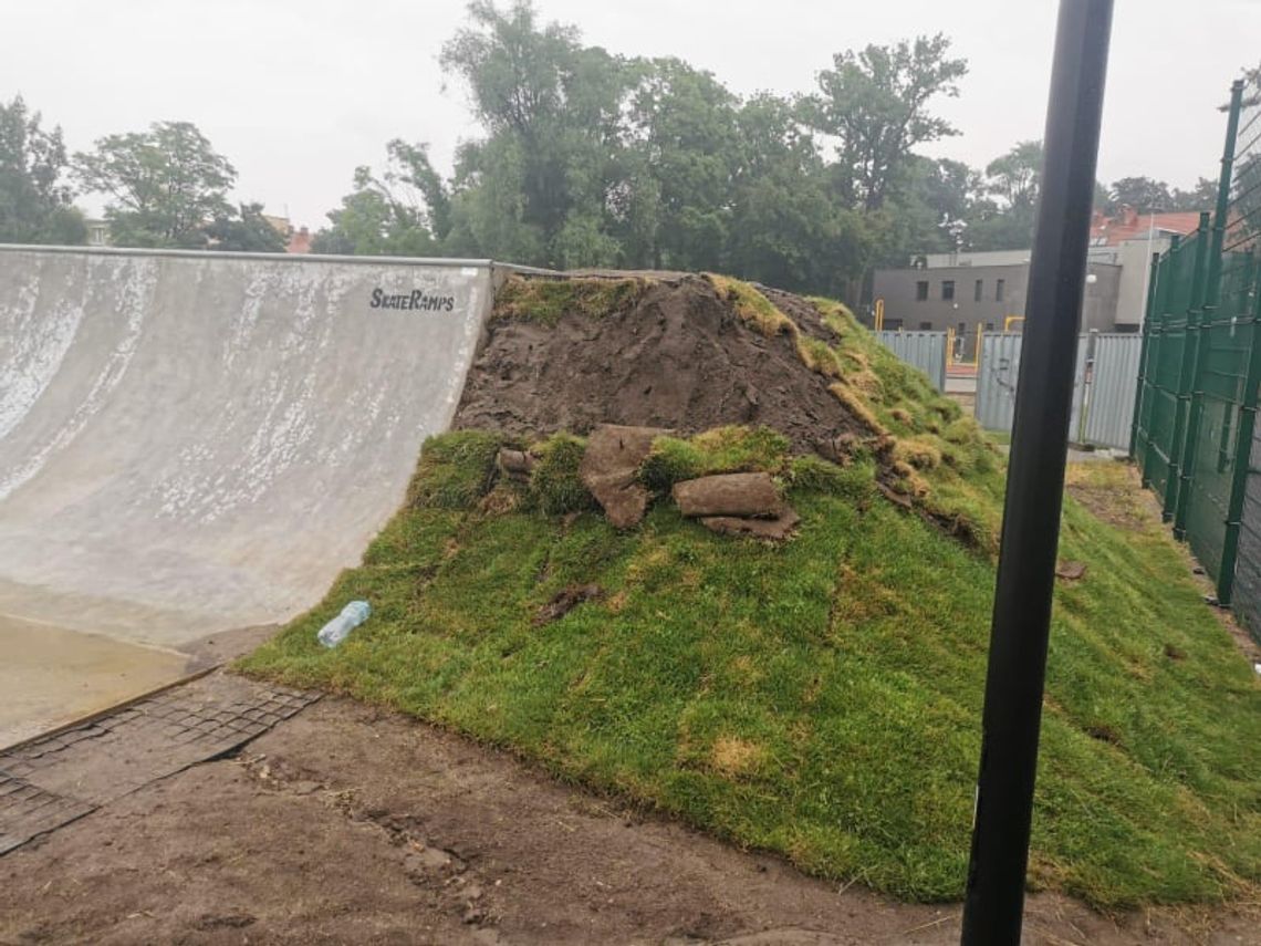
<svg viewBox="0 0 1261 946">
<path fill-rule="evenodd" d="M 492 284 L 0 247 L 0 618 L 179 650 L 314 604 L 450 423 Z"/>
</svg>

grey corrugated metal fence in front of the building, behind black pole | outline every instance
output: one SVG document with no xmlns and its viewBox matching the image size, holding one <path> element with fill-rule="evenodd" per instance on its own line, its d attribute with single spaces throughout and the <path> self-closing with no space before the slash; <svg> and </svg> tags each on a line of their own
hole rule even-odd
<svg viewBox="0 0 1261 946">
<path fill-rule="evenodd" d="M 976 419 L 986 430 L 1011 430 L 1024 336 L 991 334 L 981 341 L 976 372 Z M 1127 450 L 1142 339 L 1132 334 L 1083 334 L 1073 371 L 1073 443 Z"/>
</svg>

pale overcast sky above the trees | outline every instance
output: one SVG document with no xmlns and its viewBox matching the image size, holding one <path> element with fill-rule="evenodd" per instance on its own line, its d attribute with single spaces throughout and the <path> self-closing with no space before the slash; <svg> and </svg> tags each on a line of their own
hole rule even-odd
<svg viewBox="0 0 1261 946">
<path fill-rule="evenodd" d="M 537 0 L 627 55 L 677 55 L 740 93 L 808 91 L 831 54 L 943 32 L 971 71 L 934 103 L 984 165 L 1040 137 L 1055 0 Z M 0 0 L 0 100 L 21 93 L 72 149 L 156 120 L 197 124 L 237 196 L 313 228 L 391 137 L 449 170 L 477 134 L 438 64 L 463 0 Z M 1216 175 L 1227 97 L 1261 59 L 1261 0 L 1117 0 L 1100 178 Z M 444 85 L 448 87 L 444 90 Z M 96 209 L 93 207 L 93 209 Z"/>
</svg>

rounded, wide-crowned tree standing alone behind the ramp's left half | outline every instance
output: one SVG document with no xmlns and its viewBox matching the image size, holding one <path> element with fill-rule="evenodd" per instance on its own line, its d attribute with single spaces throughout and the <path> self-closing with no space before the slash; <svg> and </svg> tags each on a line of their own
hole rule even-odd
<svg viewBox="0 0 1261 946">
<path fill-rule="evenodd" d="M 230 216 L 236 169 L 197 126 L 159 121 L 148 131 L 108 135 L 74 155 L 87 190 L 108 194 L 116 246 L 204 247 L 208 222 Z"/>
</svg>

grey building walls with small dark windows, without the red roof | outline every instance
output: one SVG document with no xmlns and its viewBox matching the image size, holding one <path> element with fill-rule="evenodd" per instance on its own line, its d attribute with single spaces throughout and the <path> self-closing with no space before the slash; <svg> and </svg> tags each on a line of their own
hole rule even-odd
<svg viewBox="0 0 1261 946">
<path fill-rule="evenodd" d="M 1093 276 L 1093 279 L 1090 279 Z M 1091 262 L 1082 305 L 1082 330 L 1127 330 L 1117 324 L 1121 266 Z M 1029 264 L 960 265 L 876 270 L 874 298 L 884 300 L 884 328 L 956 333 L 957 357 L 976 357 L 976 327 L 1001 332 L 1011 315 L 1024 315 Z M 1013 328 L 1019 323 L 1013 323 Z"/>
</svg>

